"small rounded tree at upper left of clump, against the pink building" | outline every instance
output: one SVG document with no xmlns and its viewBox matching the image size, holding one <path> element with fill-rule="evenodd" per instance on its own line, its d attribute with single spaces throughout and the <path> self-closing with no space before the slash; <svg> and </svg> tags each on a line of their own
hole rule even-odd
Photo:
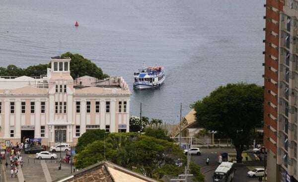
<svg viewBox="0 0 298 182">
<path fill-rule="evenodd" d="M 80 151 L 84 150 L 84 148 L 96 141 L 96 140 L 103 140 L 108 134 L 105 130 L 89 130 L 83 133 L 77 141 L 75 146 L 75 152 L 79 153 Z"/>
</svg>

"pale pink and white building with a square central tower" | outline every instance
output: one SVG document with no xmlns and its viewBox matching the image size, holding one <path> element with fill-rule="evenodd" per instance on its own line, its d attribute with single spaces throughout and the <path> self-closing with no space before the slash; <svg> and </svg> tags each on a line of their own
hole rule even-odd
<svg viewBox="0 0 298 182">
<path fill-rule="evenodd" d="M 47 75 L 0 78 L 0 140 L 75 144 L 87 130 L 129 132 L 130 91 L 121 77 L 74 80 L 70 58 L 51 58 Z"/>
</svg>

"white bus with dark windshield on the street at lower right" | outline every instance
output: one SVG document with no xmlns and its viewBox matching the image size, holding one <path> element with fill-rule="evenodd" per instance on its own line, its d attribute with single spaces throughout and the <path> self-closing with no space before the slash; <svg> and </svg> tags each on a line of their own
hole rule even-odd
<svg viewBox="0 0 298 182">
<path fill-rule="evenodd" d="M 234 164 L 230 162 L 222 162 L 215 170 L 213 182 L 231 182 L 234 178 Z"/>
</svg>

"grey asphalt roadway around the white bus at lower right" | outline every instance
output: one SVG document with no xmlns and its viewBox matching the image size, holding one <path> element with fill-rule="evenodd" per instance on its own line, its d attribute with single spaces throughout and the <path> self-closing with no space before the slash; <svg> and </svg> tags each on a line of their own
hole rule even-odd
<svg viewBox="0 0 298 182">
<path fill-rule="evenodd" d="M 205 149 L 202 148 L 201 156 L 192 155 L 191 159 L 198 165 L 201 166 L 201 172 L 205 175 L 206 182 L 213 182 L 213 174 L 218 167 L 218 154 L 222 152 L 235 153 L 234 149 L 230 148 L 214 148 Z M 207 157 L 210 158 L 209 166 L 206 165 Z M 255 167 L 249 167 L 250 169 Z M 236 167 L 234 182 L 259 182 L 257 178 L 247 177 L 247 172 L 250 171 L 248 167 Z"/>
</svg>

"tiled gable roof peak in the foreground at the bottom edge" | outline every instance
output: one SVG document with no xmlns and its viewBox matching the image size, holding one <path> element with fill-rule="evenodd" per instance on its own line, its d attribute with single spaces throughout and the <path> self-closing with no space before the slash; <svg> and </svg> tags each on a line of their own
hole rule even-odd
<svg viewBox="0 0 298 182">
<path fill-rule="evenodd" d="M 84 168 L 53 182 L 157 182 L 108 161 Z"/>
</svg>

